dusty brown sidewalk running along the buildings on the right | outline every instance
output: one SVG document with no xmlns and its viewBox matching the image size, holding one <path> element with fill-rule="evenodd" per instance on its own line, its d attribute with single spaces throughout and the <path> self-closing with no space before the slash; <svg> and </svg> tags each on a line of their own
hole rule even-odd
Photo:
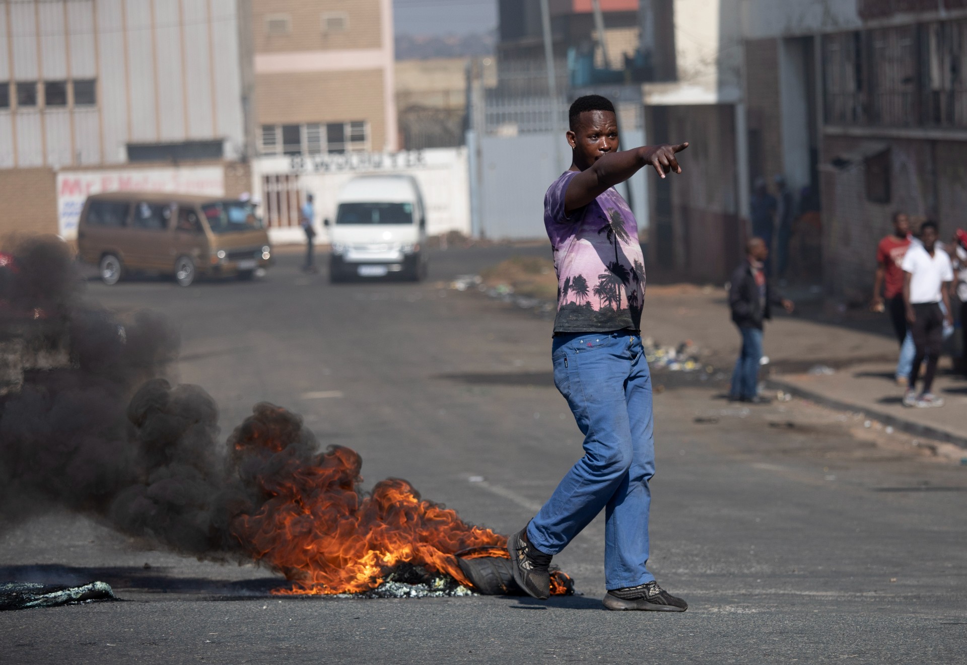
<svg viewBox="0 0 967 665">
<path fill-rule="evenodd" d="M 883 330 L 890 323 L 884 318 Z M 642 334 L 662 343 L 691 339 L 703 361 L 731 373 L 739 352 L 739 333 L 729 321 L 720 289 L 687 285 L 649 287 L 642 317 Z M 864 413 L 885 425 L 915 436 L 948 441 L 967 448 L 967 379 L 951 371 L 951 360 L 940 362 L 933 392 L 945 406 L 907 408 L 903 390 L 894 384 L 898 348 L 887 334 L 862 332 L 796 316 L 779 316 L 766 324 L 765 353 L 770 359 L 770 388 L 785 390 L 826 406 Z M 810 374 L 817 365 L 828 374 Z"/>
</svg>

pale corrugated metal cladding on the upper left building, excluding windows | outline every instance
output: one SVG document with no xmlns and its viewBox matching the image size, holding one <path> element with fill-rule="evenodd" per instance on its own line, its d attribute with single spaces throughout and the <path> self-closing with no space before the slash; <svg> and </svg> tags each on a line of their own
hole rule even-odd
<svg viewBox="0 0 967 665">
<path fill-rule="evenodd" d="M 45 107 L 44 81 L 97 80 Z M 128 143 L 244 143 L 236 0 L 0 0 L 0 168 L 120 163 Z M 37 82 L 18 107 L 15 83 Z"/>
</svg>

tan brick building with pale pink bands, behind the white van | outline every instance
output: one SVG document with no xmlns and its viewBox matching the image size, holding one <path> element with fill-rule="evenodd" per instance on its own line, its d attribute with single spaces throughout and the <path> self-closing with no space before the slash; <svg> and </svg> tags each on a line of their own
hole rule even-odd
<svg viewBox="0 0 967 665">
<path fill-rule="evenodd" d="M 397 149 L 391 0 L 251 0 L 261 155 Z"/>
</svg>

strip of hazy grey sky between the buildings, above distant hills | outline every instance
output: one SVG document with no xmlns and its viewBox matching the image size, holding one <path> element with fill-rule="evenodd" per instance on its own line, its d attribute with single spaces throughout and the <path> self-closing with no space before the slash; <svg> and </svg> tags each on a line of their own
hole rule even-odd
<svg viewBox="0 0 967 665">
<path fill-rule="evenodd" d="M 466 35 L 497 27 L 497 0 L 393 0 L 396 33 Z"/>
</svg>

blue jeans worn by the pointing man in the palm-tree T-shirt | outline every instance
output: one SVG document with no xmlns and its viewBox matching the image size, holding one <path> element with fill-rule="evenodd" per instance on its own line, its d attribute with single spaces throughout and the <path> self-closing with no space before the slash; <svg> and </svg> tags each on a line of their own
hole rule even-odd
<svg viewBox="0 0 967 665">
<path fill-rule="evenodd" d="M 648 481 L 655 475 L 652 377 L 637 333 L 554 337 L 554 385 L 584 434 L 571 467 L 527 527 L 527 539 L 557 554 L 604 508 L 604 583 L 636 587 L 648 572 Z"/>
</svg>

